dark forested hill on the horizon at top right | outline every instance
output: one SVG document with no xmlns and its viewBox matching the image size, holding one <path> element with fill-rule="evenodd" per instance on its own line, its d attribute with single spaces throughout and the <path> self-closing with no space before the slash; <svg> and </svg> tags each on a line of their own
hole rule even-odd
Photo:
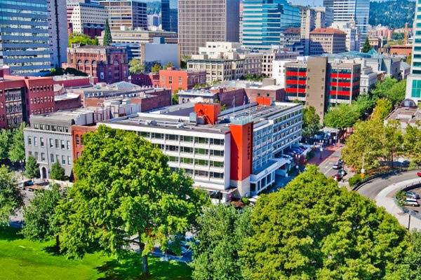
<svg viewBox="0 0 421 280">
<path fill-rule="evenodd" d="M 408 22 L 412 27 L 415 13 L 415 1 L 396 0 L 370 2 L 370 25 L 385 25 L 401 28 Z"/>
</svg>

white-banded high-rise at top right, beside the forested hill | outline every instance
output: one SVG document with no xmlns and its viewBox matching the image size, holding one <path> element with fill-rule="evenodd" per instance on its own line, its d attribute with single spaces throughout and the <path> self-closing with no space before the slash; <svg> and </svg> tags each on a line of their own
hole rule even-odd
<svg viewBox="0 0 421 280">
<path fill-rule="evenodd" d="M 355 22 L 362 46 L 368 34 L 370 0 L 323 0 L 323 6 L 333 8 L 335 22 Z"/>
</svg>

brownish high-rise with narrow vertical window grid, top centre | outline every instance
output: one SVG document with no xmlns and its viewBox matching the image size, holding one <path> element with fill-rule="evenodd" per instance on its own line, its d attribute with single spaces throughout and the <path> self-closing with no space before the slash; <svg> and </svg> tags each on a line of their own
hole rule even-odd
<svg viewBox="0 0 421 280">
<path fill-rule="evenodd" d="M 178 1 L 180 54 L 196 54 L 209 41 L 239 41 L 239 0 Z"/>
</svg>

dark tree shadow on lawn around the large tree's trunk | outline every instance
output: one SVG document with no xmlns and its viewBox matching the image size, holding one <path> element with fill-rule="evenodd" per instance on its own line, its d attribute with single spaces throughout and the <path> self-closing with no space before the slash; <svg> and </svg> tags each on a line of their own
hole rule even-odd
<svg viewBox="0 0 421 280">
<path fill-rule="evenodd" d="M 178 262 L 161 262 L 159 258 L 152 257 L 149 257 L 150 276 L 142 276 L 142 262 L 140 255 L 136 253 L 131 253 L 120 262 L 109 260 L 96 269 L 105 274 L 100 280 L 191 279 L 191 270 L 187 265 Z"/>
</svg>

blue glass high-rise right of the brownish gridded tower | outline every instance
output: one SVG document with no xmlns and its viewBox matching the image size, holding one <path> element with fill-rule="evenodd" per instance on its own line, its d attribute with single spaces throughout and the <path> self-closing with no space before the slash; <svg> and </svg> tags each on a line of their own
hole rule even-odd
<svg viewBox="0 0 421 280">
<path fill-rule="evenodd" d="M 283 31 L 300 27 L 300 9 L 286 0 L 243 0 L 242 41 L 251 49 L 281 45 Z"/>
</svg>

